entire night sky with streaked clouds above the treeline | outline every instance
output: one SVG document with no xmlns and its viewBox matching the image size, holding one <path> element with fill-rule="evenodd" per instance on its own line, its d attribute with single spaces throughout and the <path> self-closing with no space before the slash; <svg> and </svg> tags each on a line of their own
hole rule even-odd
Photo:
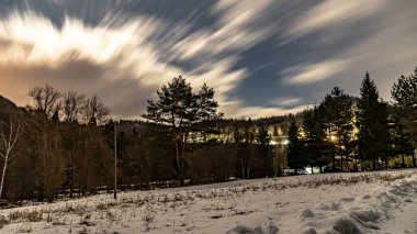
<svg viewBox="0 0 417 234">
<path fill-rule="evenodd" d="M 269 0 L 1 0 L 0 93 L 98 93 L 135 118 L 173 76 L 207 82 L 227 116 L 278 115 L 358 94 L 381 96 L 417 66 L 417 2 Z"/>
</svg>

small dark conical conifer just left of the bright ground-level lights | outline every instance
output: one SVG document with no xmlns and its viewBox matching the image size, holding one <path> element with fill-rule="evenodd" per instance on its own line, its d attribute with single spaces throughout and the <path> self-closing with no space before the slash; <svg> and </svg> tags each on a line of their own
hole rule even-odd
<svg viewBox="0 0 417 234">
<path fill-rule="evenodd" d="M 291 169 L 294 169 L 296 174 L 298 170 L 303 170 L 306 166 L 306 160 L 303 157 L 303 144 L 298 138 L 298 126 L 293 121 L 289 127 L 289 145 L 286 147 L 286 161 Z"/>
</svg>

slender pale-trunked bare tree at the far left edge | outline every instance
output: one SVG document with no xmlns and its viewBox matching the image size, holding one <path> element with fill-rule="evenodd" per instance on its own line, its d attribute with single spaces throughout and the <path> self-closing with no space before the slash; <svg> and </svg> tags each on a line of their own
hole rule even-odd
<svg viewBox="0 0 417 234">
<path fill-rule="evenodd" d="M 0 123 L 0 156 L 3 158 L 3 171 L 0 183 L 0 198 L 3 191 L 5 171 L 8 163 L 14 157 L 15 145 L 21 135 L 21 119 L 13 119 L 10 116 L 9 122 Z"/>
</svg>

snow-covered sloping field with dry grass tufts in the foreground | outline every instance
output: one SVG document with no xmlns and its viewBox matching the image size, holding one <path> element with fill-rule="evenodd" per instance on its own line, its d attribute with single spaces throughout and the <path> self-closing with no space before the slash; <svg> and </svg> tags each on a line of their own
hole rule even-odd
<svg viewBox="0 0 417 234">
<path fill-rule="evenodd" d="M 239 180 L 0 210 L 0 233 L 417 233 L 417 170 Z M 278 232 L 277 232 L 278 231 Z"/>
</svg>

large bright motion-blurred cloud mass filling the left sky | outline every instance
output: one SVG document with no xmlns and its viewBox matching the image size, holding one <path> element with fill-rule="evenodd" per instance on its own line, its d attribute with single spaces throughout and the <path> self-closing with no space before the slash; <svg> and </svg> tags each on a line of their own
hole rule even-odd
<svg viewBox="0 0 417 234">
<path fill-rule="evenodd" d="M 14 70 L 16 76 L 22 77 L 3 75 L 3 82 L 21 80 L 16 85 L 26 87 L 26 90 L 20 90 L 20 104 L 26 104 L 24 100 L 27 100 L 27 89 L 32 88 L 30 85 L 42 86 L 48 82 L 61 89 L 82 90 L 87 94 L 97 92 L 115 110 L 114 114 L 132 116 L 134 112 L 140 113 L 146 99 L 150 97 L 138 93 L 149 93 L 150 89 L 156 90 L 161 83 L 183 71 L 161 62 L 162 52 L 149 40 L 161 29 L 166 29 L 165 22 L 145 16 L 119 20 L 121 22 L 117 22 L 117 18 L 105 19 L 99 25 L 91 26 L 79 19 L 66 18 L 58 27 L 49 19 L 34 12 L 10 14 L 0 22 L 0 65 L 3 71 Z M 83 65 L 74 66 L 77 62 Z M 59 71 L 68 66 L 75 67 L 69 73 L 81 77 L 70 77 Z M 21 70 L 32 69 L 33 74 L 20 73 L 16 69 L 19 67 Z M 82 69 L 82 73 L 76 69 Z M 38 74 L 43 77 L 38 77 Z M 70 86 L 63 86 L 68 81 Z M 134 97 L 144 99 L 135 100 L 137 111 L 120 108 L 126 102 L 123 99 L 129 98 L 124 93 L 131 87 L 123 87 L 121 83 L 124 82 L 138 89 Z M 119 90 L 116 87 L 120 87 Z M 0 88 L 0 91 L 5 96 L 11 92 L 4 88 Z M 131 90 L 127 92 L 133 94 Z"/>
</svg>

